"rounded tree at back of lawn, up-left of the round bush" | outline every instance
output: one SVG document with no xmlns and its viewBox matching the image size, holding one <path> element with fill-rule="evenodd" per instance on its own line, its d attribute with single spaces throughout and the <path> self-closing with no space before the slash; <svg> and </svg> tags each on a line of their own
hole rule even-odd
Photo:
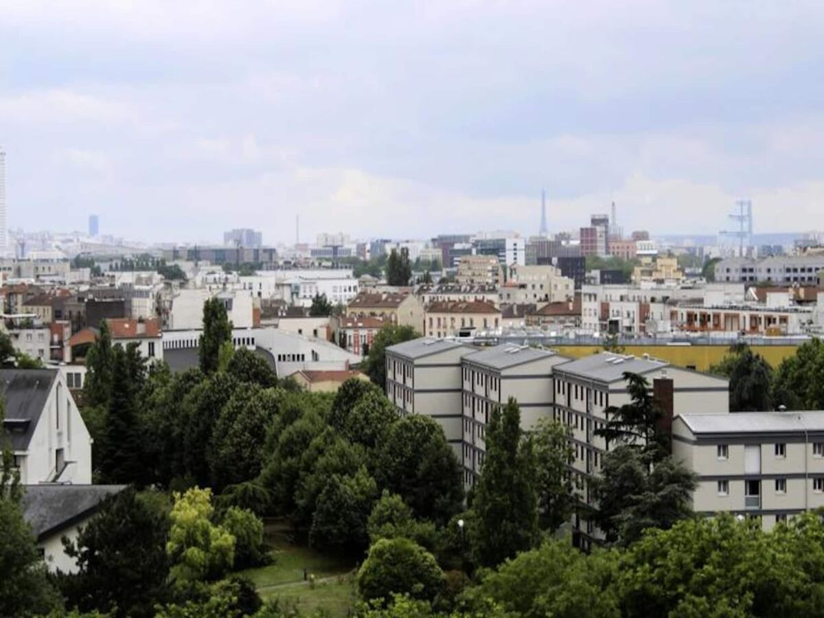
<svg viewBox="0 0 824 618">
<path fill-rule="evenodd" d="M 366 549 L 367 520 L 376 497 L 377 484 L 365 466 L 354 475 L 331 475 L 317 498 L 309 544 L 321 549 Z"/>
</svg>

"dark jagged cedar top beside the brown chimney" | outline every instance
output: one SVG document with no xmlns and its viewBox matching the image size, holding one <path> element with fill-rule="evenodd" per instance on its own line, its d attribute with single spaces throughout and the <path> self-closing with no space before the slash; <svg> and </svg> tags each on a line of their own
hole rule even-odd
<svg viewBox="0 0 824 618">
<path fill-rule="evenodd" d="M 647 379 L 630 372 L 624 372 L 623 376 L 630 403 L 608 407 L 606 425 L 596 429 L 596 435 L 606 438 L 610 444 L 634 444 L 653 457 L 667 452 L 670 438 L 660 427 L 663 410 L 653 399 Z"/>
</svg>

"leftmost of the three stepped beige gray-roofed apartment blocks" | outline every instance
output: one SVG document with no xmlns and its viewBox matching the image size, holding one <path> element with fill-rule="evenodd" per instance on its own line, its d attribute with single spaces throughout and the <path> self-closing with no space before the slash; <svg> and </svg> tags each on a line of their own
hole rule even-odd
<svg viewBox="0 0 824 618">
<path fill-rule="evenodd" d="M 458 461 L 463 461 L 461 358 L 471 345 L 450 339 L 413 339 L 386 348 L 386 396 L 401 414 L 438 421 Z"/>
</svg>

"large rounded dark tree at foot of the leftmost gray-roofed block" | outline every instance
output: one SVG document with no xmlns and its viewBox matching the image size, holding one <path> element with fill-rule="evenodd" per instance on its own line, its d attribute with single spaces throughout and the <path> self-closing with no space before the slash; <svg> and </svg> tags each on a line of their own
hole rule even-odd
<svg viewBox="0 0 824 618">
<path fill-rule="evenodd" d="M 461 465 L 443 428 L 428 416 L 404 416 L 389 426 L 374 474 L 382 487 L 410 505 L 415 517 L 444 523 L 461 510 Z"/>
</svg>

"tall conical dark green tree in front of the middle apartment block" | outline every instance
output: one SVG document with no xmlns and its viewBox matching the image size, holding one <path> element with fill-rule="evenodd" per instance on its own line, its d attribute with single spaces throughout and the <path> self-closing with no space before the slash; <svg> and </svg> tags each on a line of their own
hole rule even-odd
<svg viewBox="0 0 824 618">
<path fill-rule="evenodd" d="M 475 561 L 492 567 L 538 538 L 535 456 L 522 437 L 521 410 L 510 398 L 486 429 L 483 474 L 476 485 L 470 541 Z"/>
</svg>

